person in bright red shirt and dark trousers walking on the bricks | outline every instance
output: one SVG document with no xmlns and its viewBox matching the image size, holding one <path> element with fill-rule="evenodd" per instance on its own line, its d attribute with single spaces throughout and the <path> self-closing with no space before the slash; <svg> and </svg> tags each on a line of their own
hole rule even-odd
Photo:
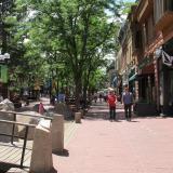
<svg viewBox="0 0 173 173">
<path fill-rule="evenodd" d="M 114 91 L 109 91 L 109 94 L 107 96 L 107 103 L 109 106 L 110 121 L 116 120 L 116 102 L 117 102 L 117 97 L 116 97 Z"/>
</svg>

